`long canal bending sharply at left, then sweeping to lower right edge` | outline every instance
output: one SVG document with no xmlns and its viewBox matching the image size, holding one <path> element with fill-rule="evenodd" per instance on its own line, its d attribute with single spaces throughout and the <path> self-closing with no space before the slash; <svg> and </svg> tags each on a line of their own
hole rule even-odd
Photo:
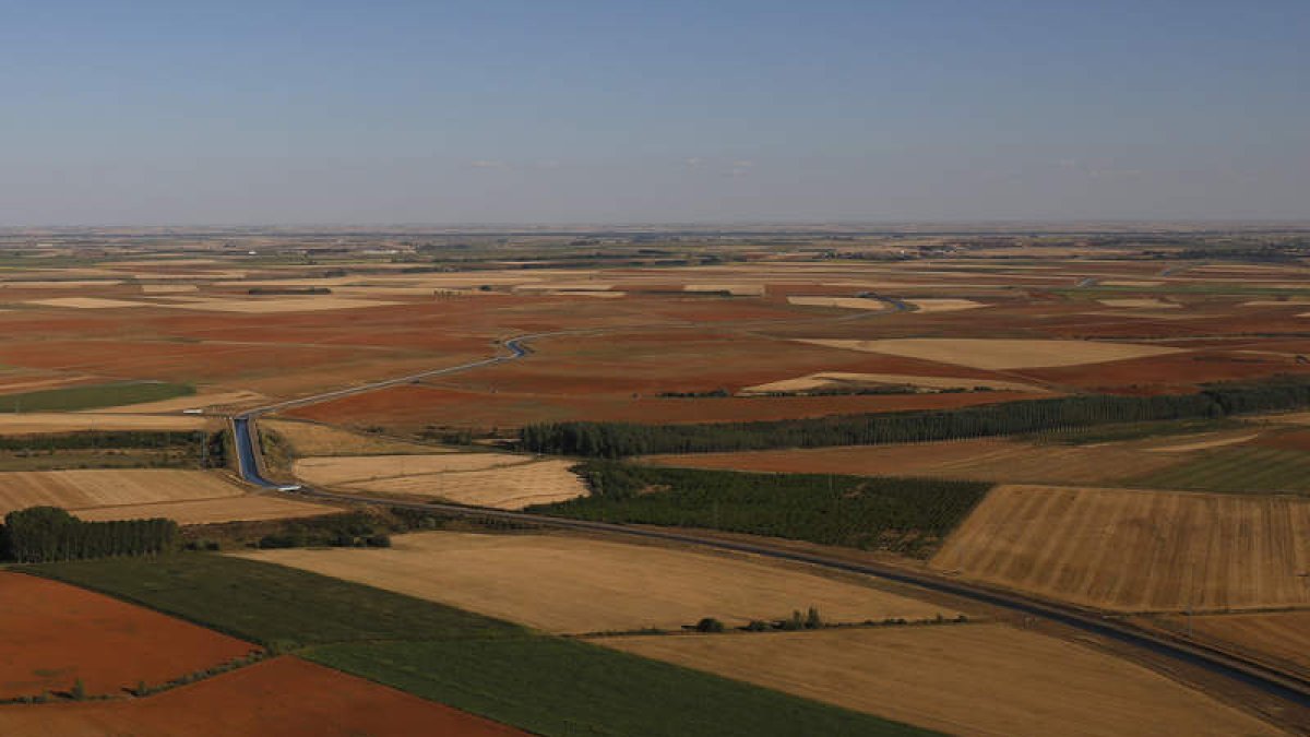
<svg viewBox="0 0 1310 737">
<path fill-rule="evenodd" d="M 498 363 L 517 361 L 529 354 L 529 350 L 525 345 L 527 342 L 550 334 L 559 334 L 559 333 L 537 333 L 537 334 L 520 336 L 512 340 L 507 340 L 504 341 L 503 346 L 510 353 L 496 355 L 493 358 L 474 361 L 470 363 L 461 363 L 458 366 L 435 368 L 432 371 L 424 371 L 422 374 L 414 374 L 398 379 L 389 379 L 385 382 L 377 382 L 372 384 L 362 384 L 359 387 L 326 392 L 322 395 L 314 395 L 309 397 L 283 401 L 279 404 L 252 409 L 242 414 L 234 416 L 232 418 L 232 424 L 236 435 L 236 446 L 237 446 L 237 456 L 238 456 L 241 477 L 255 487 L 261 487 L 265 489 L 278 488 L 278 484 L 266 479 L 261 472 L 258 450 L 254 442 L 254 435 L 252 433 L 252 421 L 254 421 L 257 417 L 262 414 L 267 414 L 270 412 L 276 412 L 282 409 L 290 409 L 293 407 L 305 407 L 356 393 L 371 392 L 380 388 L 406 384 L 428 376 L 456 374 L 472 368 L 479 368 L 483 366 L 494 366 Z M 629 525 L 566 519 L 558 517 L 529 514 L 523 511 L 470 508 L 453 504 L 403 502 L 396 500 L 380 500 L 367 496 L 326 492 L 321 489 L 313 489 L 309 487 L 300 487 L 299 489 L 296 489 L 296 493 L 300 496 L 320 498 L 324 501 L 376 505 L 376 506 L 398 506 L 406 509 L 434 511 L 440 514 L 453 514 L 460 517 L 503 519 L 510 522 L 521 522 L 528 525 L 537 525 L 537 526 L 555 527 L 565 530 L 664 540 L 688 546 L 745 552 L 764 557 L 789 560 L 794 563 L 803 563 L 836 570 L 844 570 L 849 573 L 872 576 L 886 581 L 907 584 L 910 586 L 927 589 L 930 591 L 948 594 L 959 597 L 962 599 L 973 601 L 988 606 L 1002 607 L 1024 615 L 1038 616 L 1051 622 L 1056 622 L 1058 624 L 1064 624 L 1083 631 L 1086 633 L 1107 637 L 1116 643 L 1138 648 L 1141 650 L 1145 650 L 1155 656 L 1165 656 L 1166 658 L 1174 660 L 1176 662 L 1203 669 L 1210 675 L 1218 675 L 1230 682 L 1254 688 L 1264 695 L 1275 696 L 1282 702 L 1286 702 L 1288 704 L 1296 704 L 1302 709 L 1310 709 L 1310 679 L 1272 667 L 1258 660 L 1244 657 L 1242 653 L 1229 652 L 1217 647 L 1205 645 L 1203 643 L 1191 641 L 1183 637 L 1149 632 L 1142 628 L 1134 627 L 1132 624 L 1120 622 L 1117 619 L 1108 618 L 1103 614 L 1090 610 L 1083 610 L 1076 606 L 1039 599 L 1034 597 L 1026 597 L 1023 594 L 1018 594 L 1014 591 L 992 589 L 988 586 L 980 586 L 977 584 L 968 584 L 964 581 L 952 580 L 926 570 L 922 572 L 912 570 L 907 568 L 899 568 L 875 563 L 853 563 L 849 560 L 825 557 L 821 555 L 796 552 L 794 549 L 772 547 L 765 540 L 761 540 L 760 543 L 743 543 L 743 542 L 723 540 L 713 536 L 698 536 L 694 534 L 686 534 L 681 531 L 673 532 L 673 531 L 665 531 L 650 527 L 637 527 Z"/>
</svg>

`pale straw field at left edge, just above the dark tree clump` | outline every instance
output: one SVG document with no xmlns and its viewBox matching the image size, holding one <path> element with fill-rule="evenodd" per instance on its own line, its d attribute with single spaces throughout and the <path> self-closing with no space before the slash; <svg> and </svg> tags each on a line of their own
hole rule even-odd
<svg viewBox="0 0 1310 737">
<path fill-rule="evenodd" d="M 105 468 L 0 473 L 0 513 L 29 506 L 86 509 L 241 494 L 238 487 L 206 471 Z"/>
</svg>

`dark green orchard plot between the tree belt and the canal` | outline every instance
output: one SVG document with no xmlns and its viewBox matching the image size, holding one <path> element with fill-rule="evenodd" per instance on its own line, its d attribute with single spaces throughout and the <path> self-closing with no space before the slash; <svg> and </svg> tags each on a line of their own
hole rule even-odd
<svg viewBox="0 0 1310 737">
<path fill-rule="evenodd" d="M 707 527 L 925 555 L 990 484 L 817 473 L 744 473 L 620 462 L 580 467 L 592 494 L 531 511 Z"/>
</svg>

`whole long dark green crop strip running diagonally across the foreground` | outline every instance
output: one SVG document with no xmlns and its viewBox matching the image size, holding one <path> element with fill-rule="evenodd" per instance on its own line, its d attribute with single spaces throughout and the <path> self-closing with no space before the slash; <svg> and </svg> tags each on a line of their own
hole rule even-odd
<svg viewBox="0 0 1310 737">
<path fill-rule="evenodd" d="M 536 734 L 935 734 L 266 563 L 191 553 L 21 570 L 292 650 Z"/>
</svg>

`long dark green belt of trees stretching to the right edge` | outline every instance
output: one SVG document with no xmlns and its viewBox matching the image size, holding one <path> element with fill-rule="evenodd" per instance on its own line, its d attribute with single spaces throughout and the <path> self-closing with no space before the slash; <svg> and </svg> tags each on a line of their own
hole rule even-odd
<svg viewBox="0 0 1310 737">
<path fill-rule="evenodd" d="M 803 420 L 689 425 L 549 422 L 524 426 L 519 433 L 519 441 L 524 450 L 533 452 L 625 458 L 656 452 L 947 441 L 1116 422 L 1221 418 L 1307 405 L 1310 405 L 1310 380 L 1279 376 L 1258 383 L 1212 384 L 1189 395 L 1078 395 L 958 409 L 841 414 Z"/>
</svg>

